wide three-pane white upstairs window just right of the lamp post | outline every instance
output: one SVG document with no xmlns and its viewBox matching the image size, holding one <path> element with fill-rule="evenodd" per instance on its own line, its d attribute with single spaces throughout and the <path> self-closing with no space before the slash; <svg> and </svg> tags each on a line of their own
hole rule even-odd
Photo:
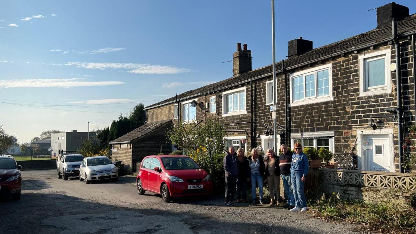
<svg viewBox="0 0 416 234">
<path fill-rule="evenodd" d="M 332 63 L 290 75 L 290 106 L 334 100 Z"/>
</svg>

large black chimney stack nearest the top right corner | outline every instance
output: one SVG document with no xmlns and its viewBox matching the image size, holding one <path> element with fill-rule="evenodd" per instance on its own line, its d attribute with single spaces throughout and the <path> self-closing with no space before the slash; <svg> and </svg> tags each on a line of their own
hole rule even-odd
<svg viewBox="0 0 416 234">
<path fill-rule="evenodd" d="M 409 8 L 395 2 L 379 7 L 377 8 L 377 29 L 391 25 L 393 19 L 399 21 L 406 16 L 409 16 Z"/>
</svg>

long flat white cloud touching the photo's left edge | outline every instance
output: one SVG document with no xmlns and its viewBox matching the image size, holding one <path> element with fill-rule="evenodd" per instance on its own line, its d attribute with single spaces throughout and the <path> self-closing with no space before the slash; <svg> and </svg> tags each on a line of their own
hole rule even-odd
<svg viewBox="0 0 416 234">
<path fill-rule="evenodd" d="M 84 81 L 79 78 L 72 79 L 23 79 L 23 80 L 0 80 L 0 88 L 37 88 L 37 87 L 85 87 L 122 85 L 121 81 Z"/>
</svg>

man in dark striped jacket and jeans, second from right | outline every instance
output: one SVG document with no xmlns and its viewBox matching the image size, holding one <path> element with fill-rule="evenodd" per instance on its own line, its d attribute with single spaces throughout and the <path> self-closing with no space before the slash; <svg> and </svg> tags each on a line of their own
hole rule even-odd
<svg viewBox="0 0 416 234">
<path fill-rule="evenodd" d="M 287 144 L 280 146 L 282 154 L 279 156 L 280 174 L 282 176 L 283 188 L 285 189 L 287 205 L 285 206 L 288 210 L 295 207 L 295 197 L 292 190 L 292 181 L 290 179 L 290 165 L 292 163 L 292 152 L 289 151 Z"/>
</svg>

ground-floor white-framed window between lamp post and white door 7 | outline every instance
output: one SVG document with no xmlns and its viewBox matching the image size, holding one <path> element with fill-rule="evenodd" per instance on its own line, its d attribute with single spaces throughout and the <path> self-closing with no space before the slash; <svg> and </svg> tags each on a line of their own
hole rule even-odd
<svg viewBox="0 0 416 234">
<path fill-rule="evenodd" d="M 291 134 L 291 145 L 294 145 L 295 142 L 302 144 L 301 135 L 299 133 Z M 330 152 L 334 152 L 334 132 L 305 132 L 303 134 L 303 148 L 320 148 L 328 149 Z"/>
</svg>

